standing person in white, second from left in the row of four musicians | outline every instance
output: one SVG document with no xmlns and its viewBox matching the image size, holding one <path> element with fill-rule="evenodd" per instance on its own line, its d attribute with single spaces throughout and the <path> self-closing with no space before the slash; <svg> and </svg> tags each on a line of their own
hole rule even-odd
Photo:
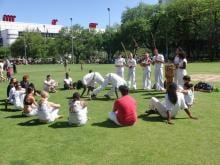
<svg viewBox="0 0 220 165">
<path fill-rule="evenodd" d="M 133 58 L 133 54 L 130 53 L 128 56 L 128 61 L 127 61 L 127 67 L 128 67 L 128 88 L 130 89 L 131 86 L 136 90 L 137 85 L 136 85 L 136 76 L 135 76 L 135 68 L 136 68 L 137 62 Z"/>
</svg>

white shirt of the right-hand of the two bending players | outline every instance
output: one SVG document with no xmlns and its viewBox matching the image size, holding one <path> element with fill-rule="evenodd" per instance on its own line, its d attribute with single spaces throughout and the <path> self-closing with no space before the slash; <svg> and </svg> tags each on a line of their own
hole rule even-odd
<svg viewBox="0 0 220 165">
<path fill-rule="evenodd" d="M 126 81 L 115 73 L 108 73 L 107 75 L 105 75 L 105 77 L 108 79 L 108 82 L 110 82 L 112 86 L 116 88 L 121 85 L 126 85 Z"/>
</svg>

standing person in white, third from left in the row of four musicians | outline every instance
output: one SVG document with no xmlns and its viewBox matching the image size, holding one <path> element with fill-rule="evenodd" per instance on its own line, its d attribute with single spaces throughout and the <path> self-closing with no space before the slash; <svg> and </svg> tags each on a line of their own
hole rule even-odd
<svg viewBox="0 0 220 165">
<path fill-rule="evenodd" d="M 151 73 L 151 59 L 149 53 L 145 54 L 144 60 L 140 64 L 143 68 L 143 89 L 151 89 L 151 80 L 150 80 L 150 73 Z"/>
</svg>

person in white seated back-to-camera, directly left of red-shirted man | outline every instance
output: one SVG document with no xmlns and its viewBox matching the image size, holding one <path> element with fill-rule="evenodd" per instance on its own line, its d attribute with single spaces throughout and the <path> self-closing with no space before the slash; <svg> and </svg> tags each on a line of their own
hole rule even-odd
<svg viewBox="0 0 220 165">
<path fill-rule="evenodd" d="M 81 126 L 86 124 L 87 118 L 87 104 L 80 100 L 80 94 L 75 92 L 69 102 L 69 125 Z"/>
</svg>

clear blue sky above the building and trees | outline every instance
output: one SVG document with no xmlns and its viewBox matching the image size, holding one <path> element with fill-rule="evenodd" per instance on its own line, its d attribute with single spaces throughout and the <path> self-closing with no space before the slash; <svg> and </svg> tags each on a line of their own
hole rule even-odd
<svg viewBox="0 0 220 165">
<path fill-rule="evenodd" d="M 88 27 L 90 22 L 98 23 L 99 28 L 108 25 L 110 8 L 111 25 L 120 23 L 121 13 L 126 7 L 137 6 L 139 2 L 156 4 L 158 0 L 0 0 L 0 16 L 16 15 L 17 22 L 50 24 L 58 19 L 58 24 L 70 26 L 78 23 Z"/>
</svg>

